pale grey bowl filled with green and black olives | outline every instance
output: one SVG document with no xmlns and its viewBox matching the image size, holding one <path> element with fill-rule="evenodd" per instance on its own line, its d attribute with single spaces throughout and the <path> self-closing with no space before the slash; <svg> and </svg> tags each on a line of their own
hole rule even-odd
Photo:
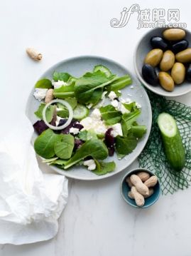
<svg viewBox="0 0 191 256">
<path fill-rule="evenodd" d="M 175 97 L 191 91 L 189 63 L 191 33 L 186 29 L 151 29 L 138 42 L 134 54 L 138 79 L 161 96 Z"/>
</svg>

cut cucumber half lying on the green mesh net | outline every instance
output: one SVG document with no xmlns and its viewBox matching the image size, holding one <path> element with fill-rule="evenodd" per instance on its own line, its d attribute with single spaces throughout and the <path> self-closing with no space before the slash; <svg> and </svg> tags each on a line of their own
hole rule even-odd
<svg viewBox="0 0 191 256">
<path fill-rule="evenodd" d="M 185 148 L 175 119 L 168 113 L 161 113 L 157 123 L 168 163 L 174 170 L 182 170 L 185 166 Z"/>
</svg>

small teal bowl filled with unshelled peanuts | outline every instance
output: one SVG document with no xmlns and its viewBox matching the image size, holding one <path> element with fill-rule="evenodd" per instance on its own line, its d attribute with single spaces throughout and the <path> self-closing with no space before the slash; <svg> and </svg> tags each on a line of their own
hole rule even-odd
<svg viewBox="0 0 191 256">
<path fill-rule="evenodd" d="M 151 170 L 137 168 L 122 179 L 121 195 L 126 203 L 135 208 L 148 208 L 160 196 L 160 183 Z"/>
</svg>

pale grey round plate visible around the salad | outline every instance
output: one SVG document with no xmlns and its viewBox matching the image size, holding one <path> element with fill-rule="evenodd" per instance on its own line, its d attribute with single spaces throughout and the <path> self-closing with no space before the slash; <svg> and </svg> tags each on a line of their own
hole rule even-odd
<svg viewBox="0 0 191 256">
<path fill-rule="evenodd" d="M 43 73 L 40 78 L 52 78 L 53 71 L 58 72 L 67 72 L 71 73 L 72 76 L 80 77 L 87 71 L 92 71 L 95 65 L 102 64 L 107 66 L 111 70 L 112 73 L 116 73 L 118 76 L 124 76 L 129 74 L 133 80 L 133 88 L 127 86 L 123 90 L 121 90 L 122 96 L 124 98 L 130 98 L 128 94 L 131 94 L 131 99 L 135 100 L 136 102 L 140 103 L 142 106 L 141 116 L 138 118 L 138 123 L 144 124 L 147 127 L 147 133 L 143 136 L 143 138 L 139 141 L 136 149 L 129 155 L 126 155 L 126 158 L 118 160 L 116 158 L 116 154 L 113 157 L 109 157 L 106 161 L 114 160 L 116 163 L 116 170 L 112 173 L 108 173 L 106 175 L 95 175 L 91 171 L 87 170 L 83 166 L 75 166 L 70 170 L 62 170 L 55 166 L 50 166 L 55 170 L 55 172 L 66 175 L 70 178 L 75 178 L 78 180 L 100 180 L 103 178 L 108 178 L 116 173 L 121 172 L 127 168 L 131 163 L 138 157 L 138 155 L 143 150 L 146 142 L 148 140 L 148 135 L 151 130 L 151 122 L 152 122 L 152 112 L 151 112 L 151 104 L 148 99 L 147 93 L 141 83 L 139 83 L 138 79 L 131 75 L 131 73 L 124 67 L 121 66 L 119 63 L 111 61 L 107 58 L 97 57 L 97 56 L 80 56 L 76 58 L 70 58 L 65 61 L 61 61 L 55 64 L 53 67 L 49 68 L 48 71 Z M 39 79 L 40 79 L 39 78 Z M 35 123 L 37 118 L 34 114 L 38 105 L 40 104 L 34 97 L 33 97 L 34 88 L 31 91 L 31 94 L 28 98 L 28 103 L 26 106 L 26 115 L 30 119 L 31 123 Z M 36 133 L 34 133 L 33 138 L 36 138 Z"/>
</svg>

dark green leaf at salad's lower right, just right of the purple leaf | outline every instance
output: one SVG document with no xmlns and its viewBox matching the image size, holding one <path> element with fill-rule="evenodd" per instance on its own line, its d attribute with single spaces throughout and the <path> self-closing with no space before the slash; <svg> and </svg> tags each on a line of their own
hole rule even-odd
<svg viewBox="0 0 191 256">
<path fill-rule="evenodd" d="M 120 157 L 124 157 L 136 148 L 137 143 L 138 140 L 132 134 L 129 134 L 126 137 L 118 135 L 116 136 L 116 152 Z"/>
</svg>

